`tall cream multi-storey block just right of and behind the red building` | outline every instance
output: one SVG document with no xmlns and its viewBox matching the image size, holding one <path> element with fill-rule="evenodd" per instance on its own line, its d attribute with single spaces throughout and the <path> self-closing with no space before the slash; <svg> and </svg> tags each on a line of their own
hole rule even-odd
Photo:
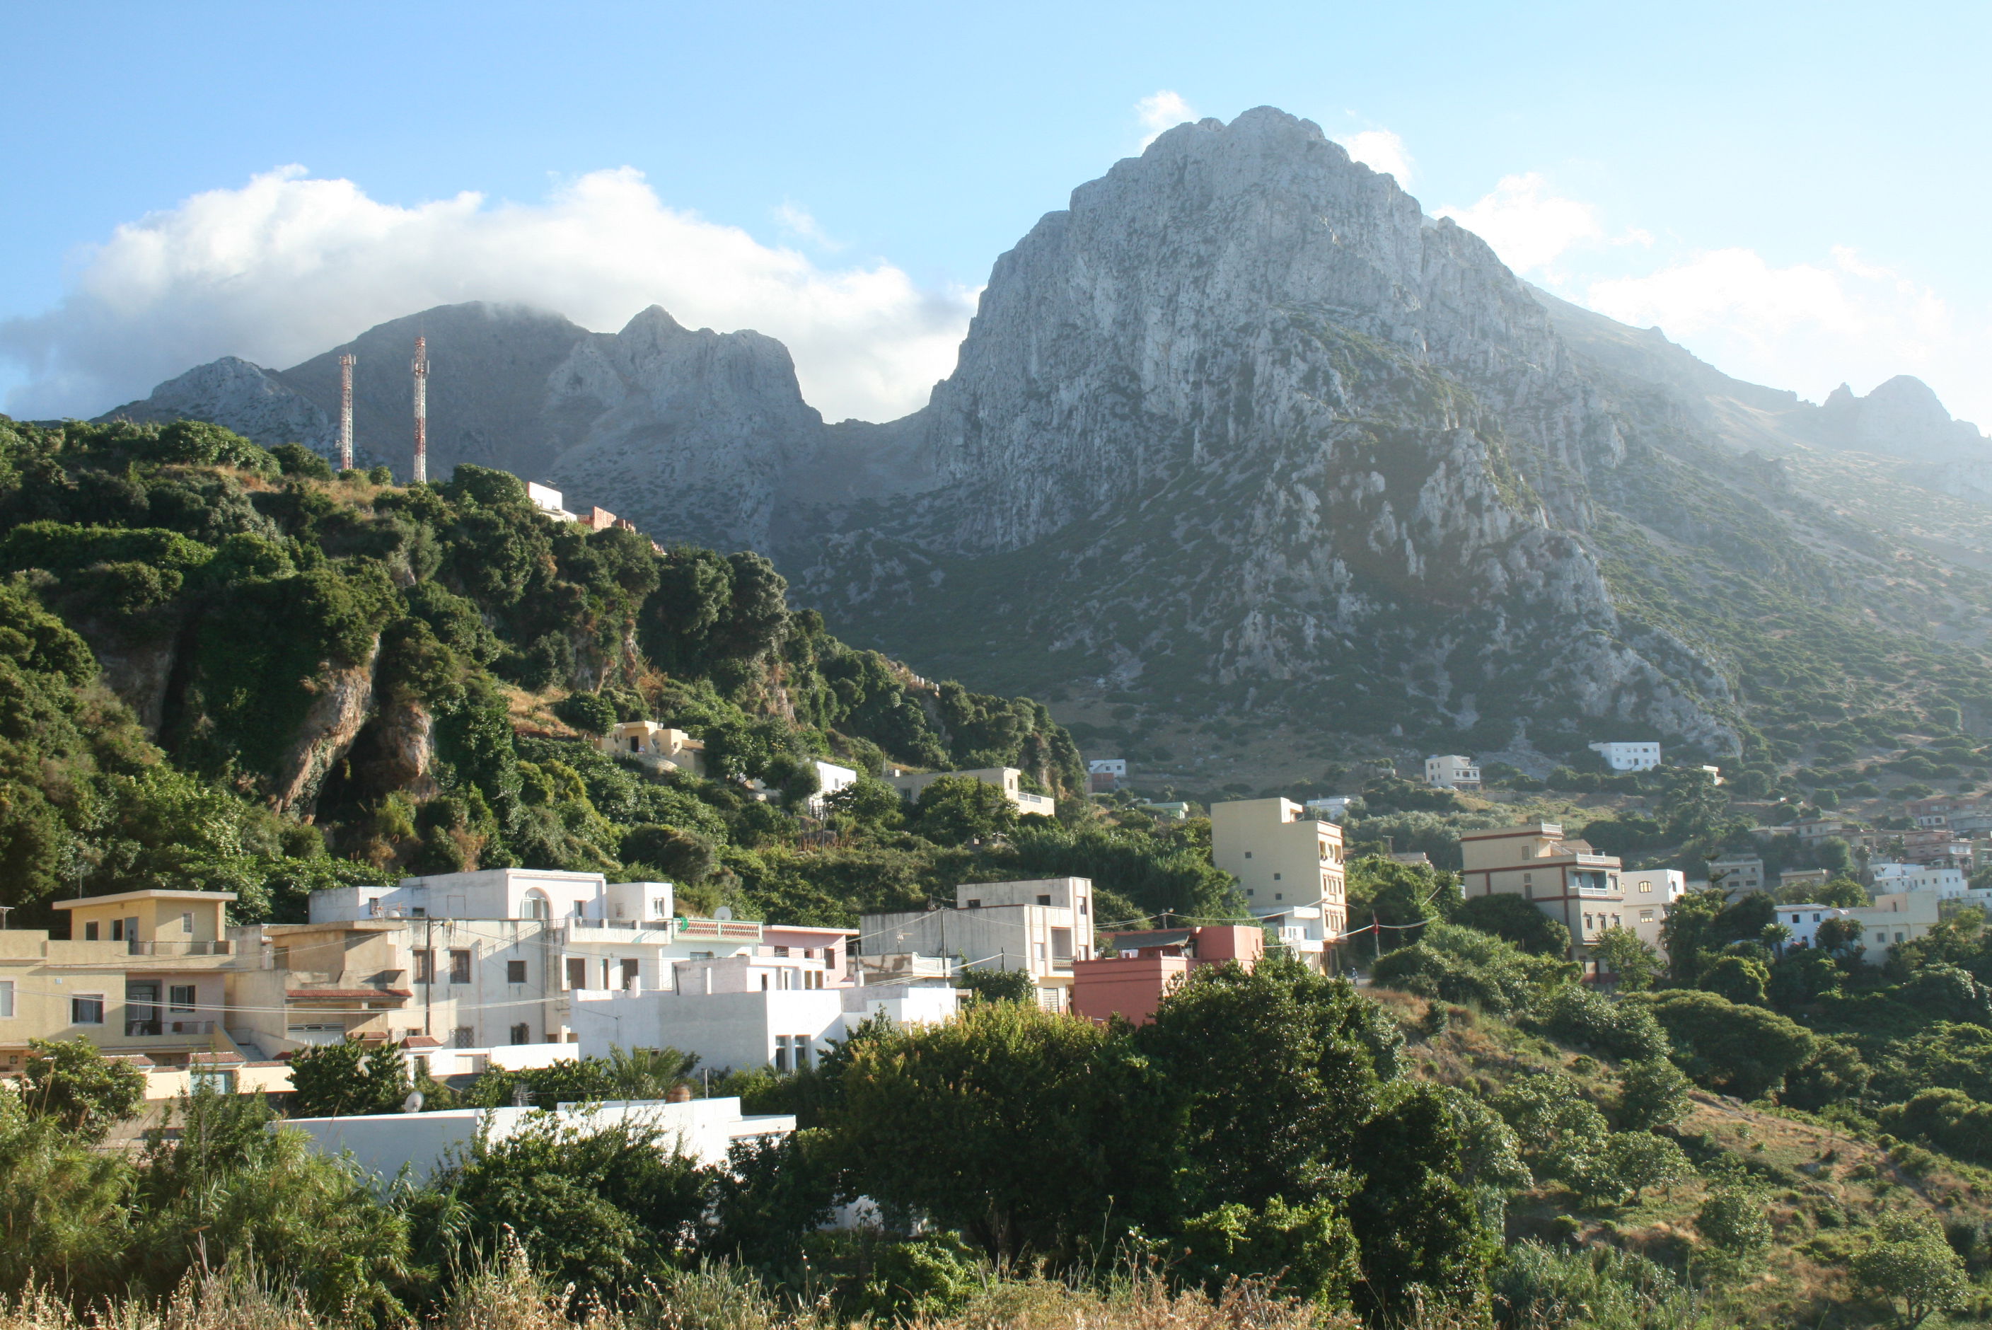
<svg viewBox="0 0 1992 1330">
<path fill-rule="evenodd" d="M 1343 828 L 1291 798 L 1211 804 L 1211 860 L 1245 890 L 1245 908 L 1309 966 L 1349 932 Z"/>
</svg>

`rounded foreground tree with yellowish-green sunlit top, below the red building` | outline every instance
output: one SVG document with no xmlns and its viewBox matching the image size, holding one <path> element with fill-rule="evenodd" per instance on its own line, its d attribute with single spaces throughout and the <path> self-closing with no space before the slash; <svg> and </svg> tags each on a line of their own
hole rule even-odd
<svg viewBox="0 0 1992 1330">
<path fill-rule="evenodd" d="M 847 1051 L 825 1125 L 853 1193 L 924 1211 L 998 1264 L 1112 1248 L 1171 1211 L 1179 1111 L 1125 1033 L 988 1001 Z"/>
</svg>

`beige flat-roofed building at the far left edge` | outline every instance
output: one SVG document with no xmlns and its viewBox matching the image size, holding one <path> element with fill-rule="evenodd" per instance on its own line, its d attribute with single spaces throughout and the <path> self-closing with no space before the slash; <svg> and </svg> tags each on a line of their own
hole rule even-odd
<svg viewBox="0 0 1992 1330">
<path fill-rule="evenodd" d="M 0 1073 L 30 1039 L 90 1039 L 145 1065 L 187 1067 L 231 1053 L 223 1025 L 231 892 L 141 890 L 54 902 L 70 938 L 0 930 Z"/>
</svg>

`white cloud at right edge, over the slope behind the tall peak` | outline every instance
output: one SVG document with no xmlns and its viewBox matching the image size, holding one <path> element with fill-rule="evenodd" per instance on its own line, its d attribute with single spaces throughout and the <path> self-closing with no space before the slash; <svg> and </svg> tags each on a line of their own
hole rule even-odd
<svg viewBox="0 0 1992 1330">
<path fill-rule="evenodd" d="M 1829 263 L 1777 267 L 1751 249 L 1715 249 L 1645 277 L 1590 283 L 1586 303 L 1659 327 L 1723 372 L 1811 400 L 1894 374 L 1928 382 L 1956 416 L 1992 418 L 1980 366 L 1992 329 L 1970 327 L 1932 289 L 1847 247 Z"/>
</svg>

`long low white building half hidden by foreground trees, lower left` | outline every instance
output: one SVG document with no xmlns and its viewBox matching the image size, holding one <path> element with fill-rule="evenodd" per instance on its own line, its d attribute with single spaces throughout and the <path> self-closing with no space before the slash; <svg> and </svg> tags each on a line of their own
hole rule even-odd
<svg viewBox="0 0 1992 1330">
<path fill-rule="evenodd" d="M 737 1141 L 785 1137 L 795 1131 L 787 1113 L 745 1115 L 739 1099 L 689 1099 L 667 1103 L 560 1105 L 558 1109 L 446 1109 L 440 1113 L 359 1113 L 355 1117 L 291 1117 L 271 1131 L 303 1131 L 325 1155 L 351 1153 L 367 1173 L 392 1179 L 402 1167 L 422 1183 L 452 1155 L 466 1153 L 486 1133 L 490 1143 L 552 1119 L 560 1127 L 592 1133 L 618 1125 L 655 1131 L 659 1147 L 701 1165 L 723 1165 Z"/>
</svg>

